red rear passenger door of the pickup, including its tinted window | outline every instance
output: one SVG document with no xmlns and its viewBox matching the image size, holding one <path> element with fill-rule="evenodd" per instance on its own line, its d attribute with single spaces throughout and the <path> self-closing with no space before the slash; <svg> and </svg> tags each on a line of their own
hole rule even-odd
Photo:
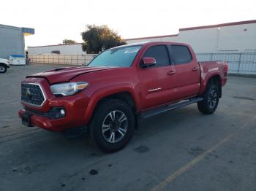
<svg viewBox="0 0 256 191">
<path fill-rule="evenodd" d="M 197 95 L 200 90 L 200 68 L 185 45 L 170 45 L 176 69 L 176 89 L 179 99 Z"/>
</svg>

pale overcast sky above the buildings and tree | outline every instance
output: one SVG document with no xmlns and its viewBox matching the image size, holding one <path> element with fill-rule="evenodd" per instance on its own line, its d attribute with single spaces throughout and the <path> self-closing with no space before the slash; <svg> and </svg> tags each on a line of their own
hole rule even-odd
<svg viewBox="0 0 256 191">
<path fill-rule="evenodd" d="M 177 34 L 178 28 L 256 19 L 256 1 L 3 0 L 0 24 L 35 28 L 26 46 L 82 42 L 86 24 L 108 25 L 123 39 Z M 1 43 L 1 42 L 0 42 Z"/>
</svg>

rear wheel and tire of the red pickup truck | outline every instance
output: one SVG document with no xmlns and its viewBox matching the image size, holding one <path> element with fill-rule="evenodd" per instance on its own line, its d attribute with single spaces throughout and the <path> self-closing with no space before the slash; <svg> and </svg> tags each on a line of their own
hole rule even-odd
<svg viewBox="0 0 256 191">
<path fill-rule="evenodd" d="M 219 104 L 219 87 L 214 83 L 208 84 L 202 97 L 203 101 L 197 103 L 198 110 L 203 114 L 214 113 Z"/>
</svg>

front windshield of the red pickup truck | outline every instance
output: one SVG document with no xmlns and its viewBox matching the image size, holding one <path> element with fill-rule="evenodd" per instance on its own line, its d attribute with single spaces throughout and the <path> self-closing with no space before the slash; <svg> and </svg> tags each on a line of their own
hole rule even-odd
<svg viewBox="0 0 256 191">
<path fill-rule="evenodd" d="M 142 46 L 117 47 L 105 50 L 94 58 L 89 66 L 129 67 Z"/>
</svg>

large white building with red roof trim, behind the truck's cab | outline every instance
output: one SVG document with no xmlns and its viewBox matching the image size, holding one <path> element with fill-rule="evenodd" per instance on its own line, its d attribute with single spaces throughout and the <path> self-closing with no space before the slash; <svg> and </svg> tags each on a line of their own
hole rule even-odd
<svg viewBox="0 0 256 191">
<path fill-rule="evenodd" d="M 178 34 L 126 39 L 127 43 L 172 41 L 190 44 L 196 53 L 256 52 L 256 20 L 180 28 Z"/>
</svg>

